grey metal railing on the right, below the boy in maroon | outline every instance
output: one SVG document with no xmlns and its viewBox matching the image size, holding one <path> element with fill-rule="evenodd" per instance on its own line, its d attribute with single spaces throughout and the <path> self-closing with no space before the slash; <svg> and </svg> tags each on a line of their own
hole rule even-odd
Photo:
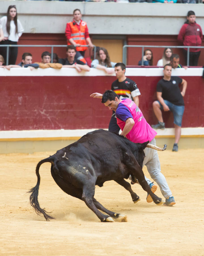
<svg viewBox="0 0 204 256">
<path fill-rule="evenodd" d="M 127 48 L 128 47 L 141 47 L 142 48 L 142 65 L 144 64 L 144 48 L 188 48 L 187 49 L 187 66 L 189 66 L 189 53 L 190 48 L 204 48 L 204 46 L 158 46 L 158 45 L 124 45 L 123 46 L 123 63 L 127 65 Z"/>
</svg>

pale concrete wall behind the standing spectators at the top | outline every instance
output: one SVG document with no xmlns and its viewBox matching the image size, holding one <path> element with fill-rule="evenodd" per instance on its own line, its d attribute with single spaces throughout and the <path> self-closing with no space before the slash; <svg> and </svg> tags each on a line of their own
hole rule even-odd
<svg viewBox="0 0 204 256">
<path fill-rule="evenodd" d="M 97 3 L 66 1 L 0 1 L 0 17 L 15 4 L 24 33 L 64 33 L 78 8 L 90 34 L 177 35 L 188 11 L 204 28 L 203 4 Z"/>
</svg>

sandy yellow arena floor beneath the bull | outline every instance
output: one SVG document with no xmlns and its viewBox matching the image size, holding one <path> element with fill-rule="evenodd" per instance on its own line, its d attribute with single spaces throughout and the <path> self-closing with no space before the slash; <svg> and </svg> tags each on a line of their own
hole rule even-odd
<svg viewBox="0 0 204 256">
<path fill-rule="evenodd" d="M 54 153 L 0 155 L 0 255 L 204 255 L 203 149 L 159 152 L 173 207 L 147 203 L 138 184 L 132 185 L 141 198 L 137 204 L 114 181 L 96 187 L 102 205 L 127 215 L 128 222 L 113 223 L 100 222 L 83 201 L 65 194 L 49 163 L 40 168 L 38 199 L 55 220 L 37 216 L 26 191 L 36 185 L 37 163 Z M 156 195 L 162 197 L 159 189 Z"/>
</svg>

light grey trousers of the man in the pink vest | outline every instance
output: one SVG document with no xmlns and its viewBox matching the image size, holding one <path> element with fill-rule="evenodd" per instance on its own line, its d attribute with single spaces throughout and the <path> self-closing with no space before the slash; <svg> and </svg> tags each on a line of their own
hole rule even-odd
<svg viewBox="0 0 204 256">
<path fill-rule="evenodd" d="M 156 146 L 155 138 L 150 141 L 150 144 Z M 161 173 L 161 166 L 157 150 L 152 148 L 145 148 L 144 152 L 145 158 L 143 161 L 143 166 L 146 165 L 150 177 L 159 185 L 162 195 L 165 198 L 169 198 L 169 196 L 171 196 L 171 190 L 169 189 L 166 178 Z M 147 179 L 147 177 L 145 177 L 145 179 L 149 185 L 151 181 Z"/>
</svg>

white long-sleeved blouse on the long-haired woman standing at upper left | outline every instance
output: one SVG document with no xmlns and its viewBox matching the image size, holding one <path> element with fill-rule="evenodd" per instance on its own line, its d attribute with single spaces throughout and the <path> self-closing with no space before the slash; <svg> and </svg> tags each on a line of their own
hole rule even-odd
<svg viewBox="0 0 204 256">
<path fill-rule="evenodd" d="M 23 34 L 24 28 L 20 22 L 20 20 L 17 19 L 18 24 L 18 33 L 16 34 L 16 26 L 13 20 L 10 21 L 10 34 L 8 34 L 6 30 L 6 23 L 7 23 L 7 16 L 3 16 L 0 18 L 0 28 L 3 29 L 3 33 L 5 37 L 8 37 L 8 40 L 13 42 L 18 42 L 19 37 Z"/>
</svg>

